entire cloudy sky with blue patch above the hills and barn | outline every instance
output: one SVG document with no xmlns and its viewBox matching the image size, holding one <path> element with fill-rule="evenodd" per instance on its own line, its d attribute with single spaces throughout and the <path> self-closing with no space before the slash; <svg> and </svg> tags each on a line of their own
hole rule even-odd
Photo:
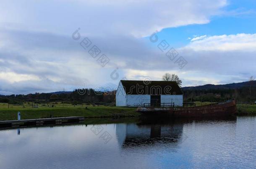
<svg viewBox="0 0 256 169">
<path fill-rule="evenodd" d="M 256 75 L 255 0 L 1 0 L 0 94 Z"/>
</svg>

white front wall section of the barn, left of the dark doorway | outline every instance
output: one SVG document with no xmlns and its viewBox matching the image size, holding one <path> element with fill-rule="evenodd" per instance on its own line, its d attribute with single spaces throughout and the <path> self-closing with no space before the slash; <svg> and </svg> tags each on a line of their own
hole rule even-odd
<svg viewBox="0 0 256 169">
<path fill-rule="evenodd" d="M 150 95 L 126 95 L 126 106 L 138 107 L 150 103 Z"/>
</svg>

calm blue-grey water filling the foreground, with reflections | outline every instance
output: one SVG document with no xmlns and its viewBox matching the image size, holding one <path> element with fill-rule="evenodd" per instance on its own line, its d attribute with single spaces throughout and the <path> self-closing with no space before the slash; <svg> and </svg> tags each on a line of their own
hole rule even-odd
<svg viewBox="0 0 256 169">
<path fill-rule="evenodd" d="M 203 167 L 256 168 L 256 116 L 0 131 L 0 169 Z"/>
</svg>

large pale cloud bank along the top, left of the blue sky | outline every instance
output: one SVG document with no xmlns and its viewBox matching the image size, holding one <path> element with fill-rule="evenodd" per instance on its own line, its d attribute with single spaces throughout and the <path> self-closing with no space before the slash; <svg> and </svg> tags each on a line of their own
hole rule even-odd
<svg viewBox="0 0 256 169">
<path fill-rule="evenodd" d="M 122 33 L 146 36 L 155 30 L 208 23 L 227 0 L 3 0 L 0 24 L 5 28 L 69 34 Z"/>
</svg>

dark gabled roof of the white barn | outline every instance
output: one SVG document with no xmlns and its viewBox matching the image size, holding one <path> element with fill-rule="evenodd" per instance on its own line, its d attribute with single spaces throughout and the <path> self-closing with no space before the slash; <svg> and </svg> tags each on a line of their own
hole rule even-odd
<svg viewBox="0 0 256 169">
<path fill-rule="evenodd" d="M 180 95 L 180 87 L 175 81 L 121 81 L 126 94 Z"/>
</svg>

